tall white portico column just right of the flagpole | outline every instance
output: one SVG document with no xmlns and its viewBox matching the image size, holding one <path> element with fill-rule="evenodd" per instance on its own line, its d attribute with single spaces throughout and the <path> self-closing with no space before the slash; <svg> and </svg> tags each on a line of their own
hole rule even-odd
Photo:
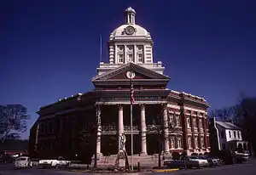
<svg viewBox="0 0 256 175">
<path fill-rule="evenodd" d="M 145 104 L 141 104 L 141 134 L 142 134 L 142 150 L 140 155 L 148 155 L 147 153 L 147 127 L 146 127 L 146 115 Z"/>
</svg>

